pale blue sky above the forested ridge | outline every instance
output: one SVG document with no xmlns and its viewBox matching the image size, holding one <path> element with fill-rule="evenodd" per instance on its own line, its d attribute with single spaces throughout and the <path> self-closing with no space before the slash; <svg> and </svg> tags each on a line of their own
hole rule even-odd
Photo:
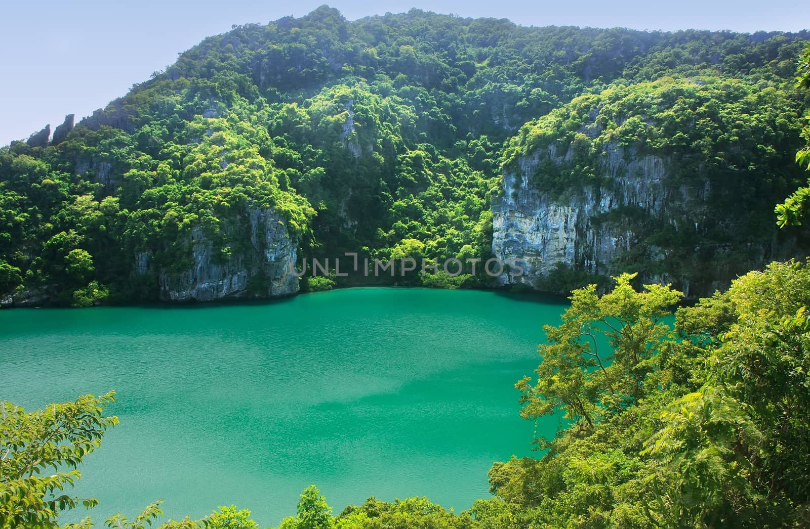
<svg viewBox="0 0 810 529">
<path fill-rule="evenodd" d="M 171 2 L 0 0 L 0 145 L 67 113 L 81 116 L 124 95 L 177 53 L 234 23 L 305 15 L 323 0 Z M 636 29 L 797 31 L 810 27 L 807 0 L 334 0 L 350 20 L 418 7 L 507 18 L 522 25 Z"/>
</svg>

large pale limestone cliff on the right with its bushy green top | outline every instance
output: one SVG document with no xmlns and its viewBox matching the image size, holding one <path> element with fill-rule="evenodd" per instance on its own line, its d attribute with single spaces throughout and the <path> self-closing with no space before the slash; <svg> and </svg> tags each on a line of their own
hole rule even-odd
<svg viewBox="0 0 810 529">
<path fill-rule="evenodd" d="M 804 235 L 776 226 L 774 204 L 806 176 L 768 96 L 662 78 L 582 95 L 523 125 L 492 197 L 492 252 L 525 273 L 498 281 L 561 291 L 638 272 L 694 298 L 804 257 Z"/>
</svg>

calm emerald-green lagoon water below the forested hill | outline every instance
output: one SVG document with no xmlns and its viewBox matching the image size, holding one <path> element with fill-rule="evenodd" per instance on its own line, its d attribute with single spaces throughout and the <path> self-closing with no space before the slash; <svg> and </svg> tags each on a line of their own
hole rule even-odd
<svg viewBox="0 0 810 529">
<path fill-rule="evenodd" d="M 117 391 L 121 418 L 76 491 L 110 514 L 163 499 L 262 526 L 315 484 L 335 514 L 366 497 L 467 509 L 493 461 L 529 455 L 514 383 L 565 304 L 478 291 L 346 289 L 277 303 L 0 311 L 0 400 Z"/>
</svg>

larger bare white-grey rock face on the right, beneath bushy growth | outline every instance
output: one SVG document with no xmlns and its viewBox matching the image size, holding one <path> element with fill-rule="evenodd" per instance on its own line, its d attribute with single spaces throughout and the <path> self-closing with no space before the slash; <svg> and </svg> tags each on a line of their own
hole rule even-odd
<svg viewBox="0 0 810 529">
<path fill-rule="evenodd" d="M 633 146 L 605 146 L 598 183 L 563 190 L 534 184 L 542 162 L 565 164 L 571 150 L 552 144 L 518 159 L 519 170 L 504 175 L 492 199 L 492 252 L 524 273 L 504 273 L 499 283 L 562 290 L 555 285 L 561 270 L 603 277 L 633 270 L 645 283 L 672 283 L 697 297 L 791 253 L 790 242 L 778 243 L 775 226 L 759 240 L 736 240 L 735 216 L 748 212 L 722 212 L 722 223 L 717 212 L 710 218 L 709 179 L 678 183 L 671 160 Z"/>
</svg>

